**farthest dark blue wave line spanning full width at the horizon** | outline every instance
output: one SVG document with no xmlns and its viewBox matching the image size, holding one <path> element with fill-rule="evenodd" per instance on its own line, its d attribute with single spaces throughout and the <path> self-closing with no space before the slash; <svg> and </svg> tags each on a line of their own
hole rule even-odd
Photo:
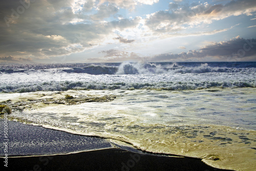
<svg viewBox="0 0 256 171">
<path fill-rule="evenodd" d="M 186 65 L 189 63 L 189 65 Z M 246 66 L 246 65 L 247 66 Z M 245 66 L 244 66 L 245 65 Z M 255 65 L 253 63 L 253 65 Z M 123 62 L 103 64 L 73 63 L 73 64 L 56 64 L 56 65 L 31 65 L 31 66 L 8 66 L 0 68 L 0 73 L 29 73 L 32 71 L 44 72 L 66 72 L 66 73 L 87 73 L 91 75 L 124 75 L 124 74 L 166 74 L 166 73 L 255 73 L 255 66 L 247 63 L 233 63 L 231 66 L 220 65 L 220 62 L 208 65 L 208 63 L 130 63 Z M 27 68 L 26 68 L 27 67 Z"/>
</svg>

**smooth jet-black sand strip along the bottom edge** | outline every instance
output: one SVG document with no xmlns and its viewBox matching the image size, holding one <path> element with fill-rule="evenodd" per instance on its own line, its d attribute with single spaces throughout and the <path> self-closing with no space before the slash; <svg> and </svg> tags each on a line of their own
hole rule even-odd
<svg viewBox="0 0 256 171">
<path fill-rule="evenodd" d="M 137 154 L 120 148 L 69 155 L 9 158 L 9 168 L 11 170 L 223 170 L 212 168 L 199 159 Z"/>
</svg>

